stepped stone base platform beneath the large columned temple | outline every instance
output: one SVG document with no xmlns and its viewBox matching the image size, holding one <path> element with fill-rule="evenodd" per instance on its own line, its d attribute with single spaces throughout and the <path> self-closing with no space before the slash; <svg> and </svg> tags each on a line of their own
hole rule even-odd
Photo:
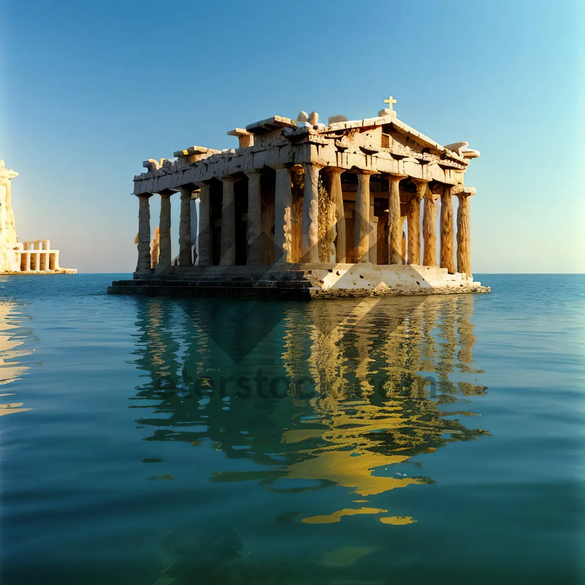
<svg viewBox="0 0 585 585">
<path fill-rule="evenodd" d="M 108 294 L 253 297 L 311 300 L 490 292 L 473 276 L 436 266 L 397 264 L 272 264 L 166 267 L 118 280 Z"/>
</svg>

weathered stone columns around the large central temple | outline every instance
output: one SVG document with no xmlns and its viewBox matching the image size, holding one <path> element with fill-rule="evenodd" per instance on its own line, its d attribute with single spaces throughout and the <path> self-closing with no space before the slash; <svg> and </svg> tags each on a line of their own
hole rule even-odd
<svg viewBox="0 0 585 585">
<path fill-rule="evenodd" d="M 319 171 L 323 166 L 315 163 L 303 164 L 305 188 L 302 207 L 302 261 L 318 262 L 318 215 L 319 215 Z M 292 190 L 290 168 L 280 164 L 272 168 L 276 171 L 274 195 L 274 246 L 275 261 L 291 261 L 291 207 Z M 341 185 L 342 168 L 326 167 L 329 173 L 329 195 L 335 204 L 336 221 L 336 260 L 345 262 L 346 257 L 346 218 L 343 213 L 343 192 Z M 247 211 L 247 263 L 260 264 L 261 261 L 261 194 L 260 171 L 246 171 L 248 179 Z M 376 263 L 377 238 L 373 205 L 370 203 L 370 176 L 374 171 L 357 171 L 357 192 L 355 204 L 355 239 L 359 262 Z M 400 181 L 407 178 L 402 174 L 388 176 L 388 263 L 403 263 L 402 225 L 404 218 L 400 209 Z M 222 178 L 222 229 L 221 229 L 221 266 L 232 266 L 236 261 L 235 249 L 235 201 L 234 184 L 237 178 Z M 436 266 L 435 226 L 437 209 L 435 195 L 428 188 L 428 181 L 412 179 L 416 192 L 412 194 L 407 212 L 408 264 L 421 264 L 420 249 L 420 207 L 424 201 L 422 236 L 424 241 L 422 264 Z M 199 265 L 209 266 L 211 259 L 211 207 L 210 187 L 207 183 L 197 183 L 199 188 Z M 179 263 L 190 266 L 191 261 L 191 196 L 192 187 L 181 187 L 181 219 L 179 224 Z M 472 193 L 459 192 L 457 209 L 457 271 L 467 274 L 470 268 L 470 217 L 469 196 Z M 150 209 L 149 197 L 139 195 L 139 243 L 137 272 L 150 269 Z M 160 266 L 171 264 L 171 193 L 161 193 L 160 207 Z M 439 266 L 455 273 L 453 259 L 453 204 L 452 187 L 445 186 L 441 194 L 441 257 Z"/>
</svg>

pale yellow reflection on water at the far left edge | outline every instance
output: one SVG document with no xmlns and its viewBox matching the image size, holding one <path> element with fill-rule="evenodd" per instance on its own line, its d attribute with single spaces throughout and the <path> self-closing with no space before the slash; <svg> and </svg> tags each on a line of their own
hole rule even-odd
<svg viewBox="0 0 585 585">
<path fill-rule="evenodd" d="M 0 302 L 0 385 L 20 380 L 20 376 L 27 370 L 27 367 L 19 365 L 16 358 L 32 353 L 30 349 L 16 349 L 23 345 L 23 342 L 15 339 L 14 335 L 14 330 L 19 327 L 14 321 L 18 320 L 19 315 L 18 306 L 15 302 Z M 0 393 L 0 398 L 13 395 L 14 393 L 10 392 Z M 0 417 L 5 414 L 16 414 L 16 412 L 31 410 L 31 408 L 22 408 L 22 405 L 22 402 L 4 402 L 4 404 L 0 404 Z"/>
</svg>

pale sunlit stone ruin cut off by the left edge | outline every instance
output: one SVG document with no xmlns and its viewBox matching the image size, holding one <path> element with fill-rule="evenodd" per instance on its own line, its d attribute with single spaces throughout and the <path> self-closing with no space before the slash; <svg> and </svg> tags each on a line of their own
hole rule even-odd
<svg viewBox="0 0 585 585">
<path fill-rule="evenodd" d="M 49 240 L 19 242 L 12 211 L 11 180 L 18 176 L 0 159 L 0 274 L 75 274 L 59 266 L 59 250 Z"/>
</svg>

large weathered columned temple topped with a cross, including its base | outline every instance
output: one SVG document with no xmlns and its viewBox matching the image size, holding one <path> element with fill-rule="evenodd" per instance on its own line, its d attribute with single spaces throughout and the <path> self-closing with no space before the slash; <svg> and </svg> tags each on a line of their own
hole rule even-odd
<svg viewBox="0 0 585 585">
<path fill-rule="evenodd" d="M 230 130 L 238 148 L 191 146 L 173 160 L 145 161 L 146 172 L 134 178 L 134 280 L 109 292 L 309 298 L 489 291 L 473 281 L 475 190 L 464 185 L 479 152 L 466 142 L 442 146 L 398 120 L 395 100 L 385 101 L 389 107 L 374 118 L 333 116 L 324 124 L 316 112 L 273 116 Z M 175 193 L 181 214 L 173 260 Z"/>
</svg>

